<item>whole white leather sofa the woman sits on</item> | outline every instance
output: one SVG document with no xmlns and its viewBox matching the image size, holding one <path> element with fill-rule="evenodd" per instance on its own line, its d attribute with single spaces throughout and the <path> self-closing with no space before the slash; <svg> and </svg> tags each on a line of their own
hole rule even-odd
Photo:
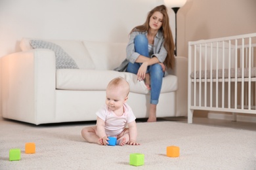
<svg viewBox="0 0 256 170">
<path fill-rule="evenodd" d="M 132 73 L 113 71 L 125 59 L 126 43 L 47 40 L 61 46 L 79 69 L 56 69 L 53 50 L 33 49 L 22 39 L 16 52 L 2 59 L 3 118 L 49 124 L 96 120 L 108 82 L 117 76 L 130 84 L 128 103 L 137 118 L 148 117 L 150 92 Z M 158 117 L 187 116 L 187 64 L 176 57 L 174 71 L 163 78 Z"/>
</svg>

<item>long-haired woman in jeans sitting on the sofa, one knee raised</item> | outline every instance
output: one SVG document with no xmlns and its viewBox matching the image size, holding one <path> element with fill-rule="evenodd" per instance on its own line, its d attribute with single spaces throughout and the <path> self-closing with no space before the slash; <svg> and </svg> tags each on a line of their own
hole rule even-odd
<svg viewBox="0 0 256 170">
<path fill-rule="evenodd" d="M 127 71 L 144 80 L 151 90 L 148 122 L 156 122 L 156 105 L 160 97 L 165 68 L 173 68 L 174 43 L 165 5 L 155 7 L 143 25 L 131 30 L 127 44 L 127 59 L 116 71 Z"/>
</svg>

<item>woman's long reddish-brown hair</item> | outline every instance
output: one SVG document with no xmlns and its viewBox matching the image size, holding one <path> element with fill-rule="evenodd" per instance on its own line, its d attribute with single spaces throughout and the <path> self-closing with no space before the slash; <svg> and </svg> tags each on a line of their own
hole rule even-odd
<svg viewBox="0 0 256 170">
<path fill-rule="evenodd" d="M 165 58 L 165 61 L 163 61 L 163 63 L 166 65 L 167 68 L 173 69 L 175 65 L 175 58 L 174 58 L 175 44 L 173 42 L 173 35 L 171 33 L 171 28 L 169 25 L 169 16 L 167 14 L 167 8 L 165 7 L 165 5 L 160 5 L 150 10 L 150 12 L 148 12 L 146 22 L 143 25 L 134 27 L 131 33 L 133 31 L 142 31 L 142 32 L 148 31 L 150 17 L 154 14 L 154 12 L 157 12 L 157 11 L 163 14 L 163 20 L 162 20 L 162 25 L 160 27 L 160 30 L 163 32 L 163 38 L 164 38 L 163 43 L 164 43 L 165 50 L 167 50 L 167 57 Z"/>
</svg>

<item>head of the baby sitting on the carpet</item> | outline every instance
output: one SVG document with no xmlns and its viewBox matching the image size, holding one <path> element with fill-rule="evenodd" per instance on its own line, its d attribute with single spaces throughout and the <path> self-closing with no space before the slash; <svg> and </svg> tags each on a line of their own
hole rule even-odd
<svg viewBox="0 0 256 170">
<path fill-rule="evenodd" d="M 106 105 L 111 110 L 120 109 L 128 99 L 129 90 L 129 83 L 124 78 L 114 78 L 106 88 Z"/>
</svg>

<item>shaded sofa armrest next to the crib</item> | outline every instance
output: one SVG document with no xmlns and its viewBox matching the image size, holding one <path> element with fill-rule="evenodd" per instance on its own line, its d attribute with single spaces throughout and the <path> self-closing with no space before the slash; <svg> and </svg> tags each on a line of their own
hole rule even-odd
<svg viewBox="0 0 256 170">
<path fill-rule="evenodd" d="M 176 116 L 187 115 L 188 112 L 188 58 L 175 57 L 175 69 L 169 70 L 169 74 L 178 78 L 178 90 L 176 92 Z"/>
</svg>

